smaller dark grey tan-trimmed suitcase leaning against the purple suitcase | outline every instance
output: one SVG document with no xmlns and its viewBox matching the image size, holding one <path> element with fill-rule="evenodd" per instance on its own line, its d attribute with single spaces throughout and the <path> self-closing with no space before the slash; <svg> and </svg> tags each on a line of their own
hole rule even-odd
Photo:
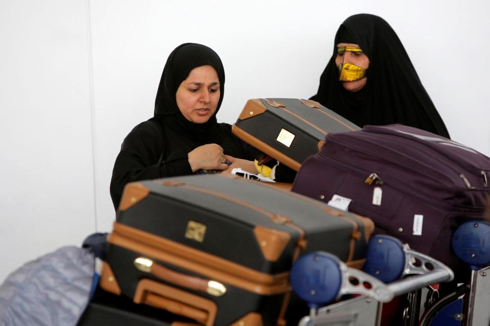
<svg viewBox="0 0 490 326">
<path fill-rule="evenodd" d="M 240 139 L 298 171 L 331 132 L 359 130 L 322 104 L 297 98 L 250 99 L 232 131 Z"/>
</svg>

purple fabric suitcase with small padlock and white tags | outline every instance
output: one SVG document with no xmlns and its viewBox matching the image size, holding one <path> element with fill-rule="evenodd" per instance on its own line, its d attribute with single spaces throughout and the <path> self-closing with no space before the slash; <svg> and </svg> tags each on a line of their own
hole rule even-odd
<svg viewBox="0 0 490 326">
<path fill-rule="evenodd" d="M 292 191 L 327 203 L 351 200 L 349 211 L 369 216 L 375 233 L 456 268 L 452 232 L 483 218 L 489 171 L 490 158 L 439 135 L 399 124 L 365 126 L 327 134 Z"/>
</svg>

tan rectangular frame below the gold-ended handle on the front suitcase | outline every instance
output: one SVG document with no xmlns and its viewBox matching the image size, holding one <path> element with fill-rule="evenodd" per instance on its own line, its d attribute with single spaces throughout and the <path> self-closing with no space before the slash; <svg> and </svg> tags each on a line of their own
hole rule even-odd
<svg viewBox="0 0 490 326">
<path fill-rule="evenodd" d="M 206 326 L 212 326 L 216 318 L 217 307 L 211 300 L 149 279 L 138 282 L 133 301 L 192 318 Z"/>
</svg>

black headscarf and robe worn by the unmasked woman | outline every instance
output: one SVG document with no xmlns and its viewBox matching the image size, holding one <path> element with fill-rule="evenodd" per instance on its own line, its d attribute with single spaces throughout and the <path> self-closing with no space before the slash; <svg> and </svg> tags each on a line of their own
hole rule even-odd
<svg viewBox="0 0 490 326">
<path fill-rule="evenodd" d="M 190 71 L 204 65 L 211 65 L 218 74 L 220 98 L 214 115 L 206 123 L 194 124 L 180 113 L 175 94 Z M 255 158 L 257 151 L 238 139 L 231 125 L 216 121 L 224 85 L 223 64 L 209 47 L 185 43 L 170 53 L 160 79 L 154 117 L 131 130 L 114 163 L 110 193 L 115 209 L 128 182 L 192 174 L 187 154 L 199 146 L 214 143 L 226 155 Z"/>
</svg>

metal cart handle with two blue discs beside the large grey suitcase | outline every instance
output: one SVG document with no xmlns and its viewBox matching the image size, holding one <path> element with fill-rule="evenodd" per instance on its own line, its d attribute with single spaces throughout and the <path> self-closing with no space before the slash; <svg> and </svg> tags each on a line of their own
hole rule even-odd
<svg viewBox="0 0 490 326">
<path fill-rule="evenodd" d="M 300 258 L 291 269 L 291 286 L 308 303 L 310 315 L 299 325 L 374 326 L 380 320 L 381 303 L 454 278 L 453 271 L 443 263 L 386 235 L 370 240 L 364 270 L 347 267 L 324 252 Z M 402 279 L 408 275 L 416 276 Z M 324 306 L 347 294 L 358 296 Z"/>
</svg>

